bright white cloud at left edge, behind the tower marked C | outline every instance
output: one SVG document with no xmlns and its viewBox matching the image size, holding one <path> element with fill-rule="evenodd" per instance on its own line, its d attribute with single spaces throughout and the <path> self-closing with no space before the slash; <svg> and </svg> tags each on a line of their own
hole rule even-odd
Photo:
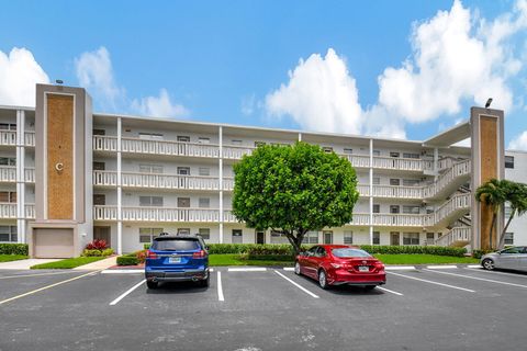
<svg viewBox="0 0 527 351">
<path fill-rule="evenodd" d="M 0 104 L 35 105 L 35 84 L 49 78 L 25 48 L 13 47 L 9 55 L 0 52 Z"/>
</svg>

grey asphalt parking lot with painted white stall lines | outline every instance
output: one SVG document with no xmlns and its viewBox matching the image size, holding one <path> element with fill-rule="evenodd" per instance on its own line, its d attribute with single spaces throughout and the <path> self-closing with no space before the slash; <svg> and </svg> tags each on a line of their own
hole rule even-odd
<svg viewBox="0 0 527 351">
<path fill-rule="evenodd" d="M 467 267 L 390 270 L 371 292 L 282 268 L 155 291 L 141 273 L 1 271 L 0 350 L 523 350 L 526 297 L 527 274 Z"/>
</svg>

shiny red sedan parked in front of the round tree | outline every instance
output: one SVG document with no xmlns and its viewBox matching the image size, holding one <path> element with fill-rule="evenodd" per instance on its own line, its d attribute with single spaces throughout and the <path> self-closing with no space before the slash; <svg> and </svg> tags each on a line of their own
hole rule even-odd
<svg viewBox="0 0 527 351">
<path fill-rule="evenodd" d="M 372 290 L 386 283 L 384 264 L 359 248 L 318 245 L 296 257 L 294 273 L 316 279 L 322 288 L 329 285 L 363 285 Z"/>
</svg>

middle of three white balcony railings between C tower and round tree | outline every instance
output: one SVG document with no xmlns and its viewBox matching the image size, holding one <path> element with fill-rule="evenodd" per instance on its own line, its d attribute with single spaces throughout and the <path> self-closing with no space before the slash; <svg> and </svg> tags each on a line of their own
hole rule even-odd
<svg viewBox="0 0 527 351">
<path fill-rule="evenodd" d="M 215 177 L 152 174 L 123 172 L 123 188 L 172 189 L 172 190 L 208 190 L 220 189 L 220 180 Z M 116 186 L 117 172 L 93 171 L 93 185 Z"/>
</svg>

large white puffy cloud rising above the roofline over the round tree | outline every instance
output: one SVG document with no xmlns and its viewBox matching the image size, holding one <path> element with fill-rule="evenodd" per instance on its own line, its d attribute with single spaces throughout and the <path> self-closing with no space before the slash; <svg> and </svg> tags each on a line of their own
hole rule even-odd
<svg viewBox="0 0 527 351">
<path fill-rule="evenodd" d="M 358 134 L 361 107 L 355 79 L 333 48 L 311 55 L 289 72 L 289 82 L 266 97 L 272 116 L 290 115 L 310 131 Z"/>
</svg>

